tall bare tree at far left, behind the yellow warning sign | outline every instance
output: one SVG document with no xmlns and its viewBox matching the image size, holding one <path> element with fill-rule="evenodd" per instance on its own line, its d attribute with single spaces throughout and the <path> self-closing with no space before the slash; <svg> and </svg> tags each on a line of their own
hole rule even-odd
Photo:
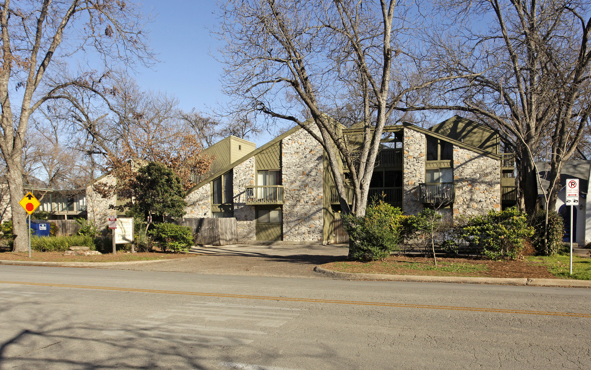
<svg viewBox="0 0 591 370">
<path fill-rule="evenodd" d="M 119 0 L 0 3 L 0 149 L 8 170 L 15 251 L 27 249 L 25 212 L 18 201 L 23 195 L 22 148 L 30 117 L 61 89 L 83 85 L 93 74 L 81 71 L 76 80 L 60 80 L 57 67 L 66 66 L 70 58 L 96 52 L 103 67 L 116 61 L 133 67 L 138 58 L 151 57 L 138 9 Z M 44 82 L 49 76 L 59 83 L 47 86 Z M 20 100 L 18 107 L 12 106 L 12 99 Z"/>
</svg>

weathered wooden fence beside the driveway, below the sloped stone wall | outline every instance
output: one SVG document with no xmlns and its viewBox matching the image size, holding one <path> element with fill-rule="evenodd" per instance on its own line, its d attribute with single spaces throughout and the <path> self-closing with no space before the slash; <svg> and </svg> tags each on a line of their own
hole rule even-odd
<svg viewBox="0 0 591 370">
<path fill-rule="evenodd" d="M 182 218 L 179 225 L 193 231 L 195 244 L 228 245 L 238 243 L 236 218 Z"/>
</svg>

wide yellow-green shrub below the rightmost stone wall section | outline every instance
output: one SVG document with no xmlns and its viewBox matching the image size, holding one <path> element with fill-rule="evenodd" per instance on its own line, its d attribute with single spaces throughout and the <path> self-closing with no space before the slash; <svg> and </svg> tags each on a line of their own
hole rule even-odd
<svg viewBox="0 0 591 370">
<path fill-rule="evenodd" d="M 524 241 L 533 234 L 534 228 L 517 208 L 467 218 L 462 227 L 464 240 L 493 260 L 520 258 Z"/>
</svg>

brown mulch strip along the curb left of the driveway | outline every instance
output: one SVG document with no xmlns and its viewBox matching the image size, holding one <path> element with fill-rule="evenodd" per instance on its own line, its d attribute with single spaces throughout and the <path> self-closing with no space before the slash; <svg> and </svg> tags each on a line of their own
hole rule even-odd
<svg viewBox="0 0 591 370">
<path fill-rule="evenodd" d="M 99 254 L 97 256 L 64 256 L 63 252 L 2 252 L 0 260 L 9 261 L 35 261 L 35 262 L 131 262 L 148 260 L 171 260 L 175 258 L 193 257 L 194 254 L 185 253 L 126 253 Z"/>
</svg>

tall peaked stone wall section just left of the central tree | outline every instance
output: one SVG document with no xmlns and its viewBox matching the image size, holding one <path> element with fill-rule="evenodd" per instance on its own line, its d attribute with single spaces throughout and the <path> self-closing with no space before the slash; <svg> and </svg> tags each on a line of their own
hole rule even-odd
<svg viewBox="0 0 591 370">
<path fill-rule="evenodd" d="M 322 146 L 306 130 L 281 142 L 285 241 L 322 241 L 322 153 Z"/>
</svg>

